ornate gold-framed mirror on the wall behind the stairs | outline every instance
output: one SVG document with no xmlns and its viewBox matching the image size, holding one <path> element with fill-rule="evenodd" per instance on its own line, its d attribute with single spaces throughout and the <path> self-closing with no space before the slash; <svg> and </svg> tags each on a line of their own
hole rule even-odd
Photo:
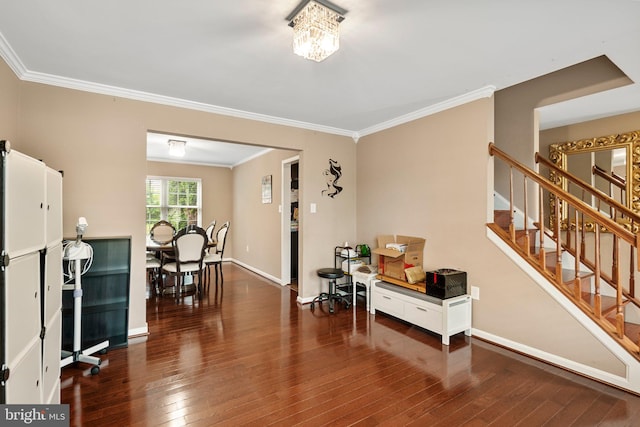
<svg viewBox="0 0 640 427">
<path fill-rule="evenodd" d="M 640 213 L 640 130 L 551 144 L 549 160 L 633 212 Z M 563 190 L 594 206 L 590 196 L 569 186 L 568 180 L 560 174 L 551 170 L 550 179 Z M 551 196 L 551 224 L 555 224 L 554 204 L 555 197 Z M 601 206 L 600 210 L 608 214 L 606 207 Z M 567 207 L 561 206 L 560 212 L 564 230 L 569 226 Z M 587 231 L 593 231 L 593 223 L 585 221 L 583 225 Z M 575 224 L 571 224 L 573 227 Z"/>
</svg>

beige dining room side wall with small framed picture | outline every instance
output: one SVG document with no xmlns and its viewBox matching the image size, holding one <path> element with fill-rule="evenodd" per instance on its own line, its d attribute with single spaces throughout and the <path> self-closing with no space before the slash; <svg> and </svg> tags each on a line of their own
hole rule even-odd
<svg viewBox="0 0 640 427">
<path fill-rule="evenodd" d="M 297 151 L 273 150 L 233 168 L 231 236 L 237 248 L 233 257 L 272 277 L 281 277 L 282 217 L 278 208 L 282 204 L 282 161 L 296 155 Z M 272 177 L 271 203 L 262 203 L 261 184 L 265 175 Z M 236 228 L 235 224 L 244 226 Z"/>
</svg>

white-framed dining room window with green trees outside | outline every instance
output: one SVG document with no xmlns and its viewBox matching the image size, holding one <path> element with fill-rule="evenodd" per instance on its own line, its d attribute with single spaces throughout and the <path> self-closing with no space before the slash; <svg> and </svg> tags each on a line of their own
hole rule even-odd
<svg viewBox="0 0 640 427">
<path fill-rule="evenodd" d="M 202 181 L 194 178 L 147 177 L 147 233 L 164 219 L 176 230 L 200 225 Z"/>
</svg>

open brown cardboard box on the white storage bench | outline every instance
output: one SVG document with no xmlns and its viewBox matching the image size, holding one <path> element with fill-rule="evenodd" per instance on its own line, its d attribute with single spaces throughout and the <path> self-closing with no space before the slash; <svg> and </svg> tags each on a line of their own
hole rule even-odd
<svg viewBox="0 0 640 427">
<path fill-rule="evenodd" d="M 405 252 L 387 248 L 387 243 L 407 245 Z M 378 270 L 380 274 L 405 280 L 404 269 L 408 267 L 422 267 L 425 239 L 412 236 L 378 236 L 378 247 L 371 252 L 379 256 Z"/>
</svg>

